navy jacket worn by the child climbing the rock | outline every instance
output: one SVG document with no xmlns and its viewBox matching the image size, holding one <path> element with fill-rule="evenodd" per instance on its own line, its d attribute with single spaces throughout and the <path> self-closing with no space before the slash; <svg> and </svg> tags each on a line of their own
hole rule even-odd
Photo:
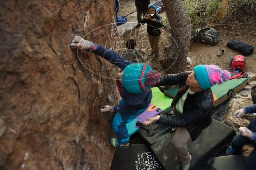
<svg viewBox="0 0 256 170">
<path fill-rule="evenodd" d="M 112 64 L 118 66 L 121 70 L 124 70 L 129 64 L 134 64 L 131 61 L 121 57 L 119 53 L 110 50 L 109 48 L 100 44 L 96 45 L 97 48 L 93 53 L 103 57 L 105 60 L 110 61 Z M 120 81 L 117 81 L 118 90 L 120 96 L 124 100 L 124 105 L 114 106 L 114 111 L 119 113 L 136 113 L 138 110 L 147 107 L 150 104 L 152 98 L 152 90 L 140 94 L 129 93 Z"/>
</svg>

